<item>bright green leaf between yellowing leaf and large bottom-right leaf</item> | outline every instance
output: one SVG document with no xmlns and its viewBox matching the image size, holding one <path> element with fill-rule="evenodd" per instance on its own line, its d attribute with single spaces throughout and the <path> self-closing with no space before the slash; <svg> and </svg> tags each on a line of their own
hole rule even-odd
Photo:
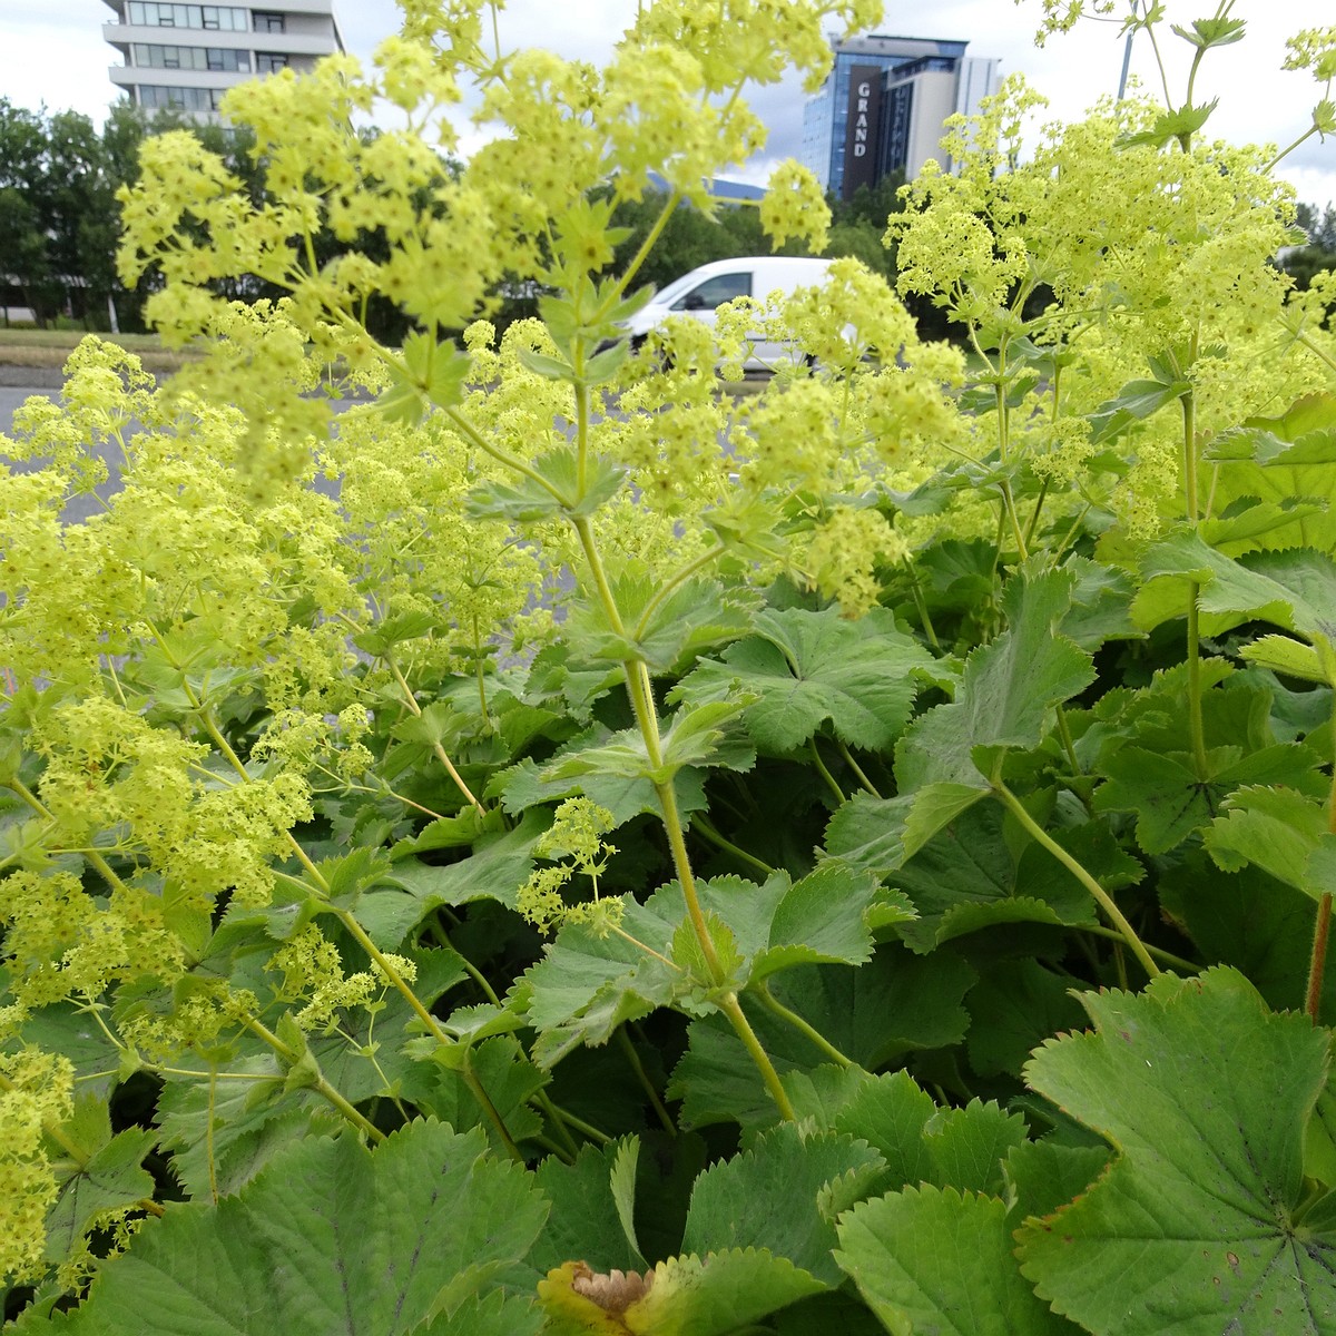
<svg viewBox="0 0 1336 1336">
<path fill-rule="evenodd" d="M 894 1336 L 1074 1332 L 1017 1271 L 1006 1205 L 922 1188 L 866 1201 L 840 1221 L 840 1267 Z"/>
</svg>

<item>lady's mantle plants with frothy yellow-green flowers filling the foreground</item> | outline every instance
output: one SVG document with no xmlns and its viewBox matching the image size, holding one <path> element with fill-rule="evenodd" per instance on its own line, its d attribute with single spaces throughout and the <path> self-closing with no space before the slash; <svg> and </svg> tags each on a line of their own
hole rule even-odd
<svg viewBox="0 0 1336 1336">
<path fill-rule="evenodd" d="M 1209 139 L 1232 5 L 1129 20 L 1181 96 L 1023 156 L 1007 84 L 907 188 L 969 357 L 851 261 L 620 334 L 615 204 L 712 208 L 875 5 L 603 71 L 402 8 L 230 95 L 262 199 L 146 148 L 124 277 L 206 357 L 88 341 L 5 442 L 16 1329 L 1336 1332 L 1336 289 Z M 792 164 L 763 215 L 823 243 Z"/>
</svg>

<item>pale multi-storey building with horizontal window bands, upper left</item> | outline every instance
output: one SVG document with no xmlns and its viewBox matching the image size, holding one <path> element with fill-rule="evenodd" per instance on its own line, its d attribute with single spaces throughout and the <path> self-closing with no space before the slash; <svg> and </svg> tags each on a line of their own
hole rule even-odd
<svg viewBox="0 0 1336 1336">
<path fill-rule="evenodd" d="M 140 107 L 219 120 L 234 84 L 289 65 L 310 69 L 343 49 L 334 0 L 274 0 L 263 9 L 226 4 L 107 0 L 103 36 L 120 53 L 111 81 Z"/>
</svg>

